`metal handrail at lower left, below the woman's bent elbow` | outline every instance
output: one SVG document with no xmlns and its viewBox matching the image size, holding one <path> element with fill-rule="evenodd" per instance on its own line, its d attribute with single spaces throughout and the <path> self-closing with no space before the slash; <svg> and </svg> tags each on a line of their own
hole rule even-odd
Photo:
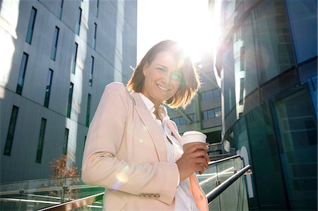
<svg viewBox="0 0 318 211">
<path fill-rule="evenodd" d="M 90 195 L 90 196 L 87 196 L 85 198 L 79 198 L 79 199 L 76 199 L 76 200 L 71 200 L 67 203 L 61 203 L 59 205 L 53 205 L 53 206 L 50 206 L 50 207 L 45 207 L 45 208 L 42 208 L 40 210 L 37 210 L 37 211 L 47 211 L 47 210 L 50 210 L 50 211 L 62 211 L 62 210 L 73 210 L 73 209 L 76 209 L 78 207 L 83 207 L 85 205 L 90 205 L 90 204 L 93 204 L 99 200 L 102 200 L 102 197 L 104 196 L 104 192 L 103 193 L 98 193 L 98 194 L 95 194 L 95 195 Z"/>
</svg>

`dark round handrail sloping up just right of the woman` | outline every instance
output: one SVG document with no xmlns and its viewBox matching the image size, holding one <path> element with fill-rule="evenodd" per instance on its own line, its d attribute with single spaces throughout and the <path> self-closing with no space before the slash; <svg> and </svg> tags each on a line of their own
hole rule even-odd
<svg viewBox="0 0 318 211">
<path fill-rule="evenodd" d="M 208 203 L 211 203 L 211 201 L 218 197 L 223 191 L 225 191 L 228 186 L 232 185 L 237 179 L 240 178 L 243 174 L 245 174 L 246 171 L 251 169 L 251 165 L 247 165 L 243 169 L 240 169 L 240 171 L 237 171 L 236 174 L 233 174 L 230 176 L 227 180 L 225 180 L 223 183 L 220 183 L 219 186 L 214 188 L 212 191 L 210 191 L 208 194 L 206 194 L 206 198 L 208 198 Z"/>
</svg>

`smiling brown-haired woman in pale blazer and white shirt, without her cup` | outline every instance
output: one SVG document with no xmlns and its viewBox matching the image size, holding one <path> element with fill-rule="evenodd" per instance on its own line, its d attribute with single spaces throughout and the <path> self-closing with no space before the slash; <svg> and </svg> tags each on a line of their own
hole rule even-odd
<svg viewBox="0 0 318 211">
<path fill-rule="evenodd" d="M 152 47 L 127 89 L 105 88 L 90 123 L 82 179 L 106 188 L 105 210 L 208 210 L 195 171 L 208 169 L 206 145 L 182 154 L 169 107 L 186 107 L 199 88 L 192 61 L 177 42 Z"/>
</svg>

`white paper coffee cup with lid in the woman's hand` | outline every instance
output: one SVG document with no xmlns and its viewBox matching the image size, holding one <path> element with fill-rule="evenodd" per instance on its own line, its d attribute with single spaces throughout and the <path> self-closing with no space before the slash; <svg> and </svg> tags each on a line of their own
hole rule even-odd
<svg viewBox="0 0 318 211">
<path fill-rule="evenodd" d="M 183 151 L 186 152 L 196 143 L 206 144 L 206 135 L 199 131 L 187 131 L 181 137 Z"/>
</svg>

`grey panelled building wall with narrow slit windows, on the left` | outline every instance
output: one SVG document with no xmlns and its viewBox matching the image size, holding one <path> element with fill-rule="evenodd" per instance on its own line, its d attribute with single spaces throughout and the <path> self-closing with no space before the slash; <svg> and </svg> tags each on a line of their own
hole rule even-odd
<svg viewBox="0 0 318 211">
<path fill-rule="evenodd" d="M 33 8 L 36 16 L 29 44 L 26 40 Z M 0 1 L 1 182 L 48 177 L 50 162 L 63 154 L 66 128 L 67 156 L 81 167 L 88 124 L 105 85 L 112 81 L 126 83 L 131 76 L 130 66 L 136 65 L 136 8 L 136 1 Z M 56 27 L 59 36 L 54 61 L 51 52 Z M 75 43 L 78 51 L 73 73 Z M 23 90 L 18 95 L 23 52 L 28 54 L 28 63 Z M 48 107 L 44 107 L 49 69 L 53 71 L 52 84 Z M 67 117 L 70 83 L 73 96 Z M 8 130 L 13 129 L 13 106 L 18 107 L 18 115 L 10 153 L 5 153 L 10 143 Z M 46 126 L 39 163 L 35 160 L 42 118 Z"/>
</svg>

